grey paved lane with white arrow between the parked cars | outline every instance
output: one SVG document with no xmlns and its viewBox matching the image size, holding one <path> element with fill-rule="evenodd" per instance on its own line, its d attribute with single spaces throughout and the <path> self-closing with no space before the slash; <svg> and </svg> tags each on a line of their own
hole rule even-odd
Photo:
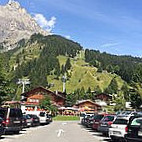
<svg viewBox="0 0 142 142">
<path fill-rule="evenodd" d="M 79 122 L 55 121 L 49 125 L 27 128 L 18 135 L 4 135 L 0 142 L 105 142 L 107 138 L 84 128 Z"/>
</svg>

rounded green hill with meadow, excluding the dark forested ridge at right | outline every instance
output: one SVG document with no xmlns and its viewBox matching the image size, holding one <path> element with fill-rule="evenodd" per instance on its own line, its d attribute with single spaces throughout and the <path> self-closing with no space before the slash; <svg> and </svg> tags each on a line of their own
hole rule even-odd
<svg viewBox="0 0 142 142">
<path fill-rule="evenodd" d="M 19 41 L 14 50 L 2 54 L 4 70 L 14 86 L 19 78 L 29 78 L 30 88 L 44 86 L 62 91 L 62 77 L 66 76 L 68 93 L 89 88 L 103 92 L 116 77 L 120 89 L 122 79 L 106 71 L 99 73 L 96 67 L 84 61 L 82 49 L 78 43 L 61 36 L 36 34 L 30 40 Z"/>
</svg>

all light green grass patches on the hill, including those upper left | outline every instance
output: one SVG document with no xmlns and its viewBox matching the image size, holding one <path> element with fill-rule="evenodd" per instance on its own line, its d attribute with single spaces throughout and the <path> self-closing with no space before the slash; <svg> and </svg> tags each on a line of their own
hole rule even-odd
<svg viewBox="0 0 142 142">
<path fill-rule="evenodd" d="M 34 58 L 38 58 L 40 55 L 40 47 L 42 45 L 32 44 L 24 48 L 24 53 L 20 56 L 21 62 L 27 62 Z M 11 57 L 10 66 L 11 69 L 16 66 L 16 56 L 22 52 L 23 49 L 18 50 Z M 23 60 L 23 55 L 25 55 L 25 60 Z M 60 65 L 65 64 L 68 57 L 59 56 L 58 59 L 60 61 Z M 68 93 L 73 92 L 77 88 L 84 87 L 86 90 L 88 87 L 91 90 L 94 90 L 95 86 L 100 86 L 102 90 L 104 90 L 110 83 L 111 79 L 116 76 L 115 74 L 110 74 L 104 71 L 103 73 L 98 73 L 97 68 L 91 67 L 84 61 L 84 51 L 81 51 L 80 54 L 76 58 L 71 58 L 72 68 L 70 70 L 71 78 L 66 82 L 66 90 Z M 62 91 L 62 81 L 61 77 L 59 80 L 54 79 L 54 75 L 50 75 L 47 77 L 49 83 L 53 83 L 54 86 L 51 87 L 51 90 L 59 90 Z M 118 86 L 121 88 L 123 81 L 120 77 L 116 77 Z"/>
</svg>

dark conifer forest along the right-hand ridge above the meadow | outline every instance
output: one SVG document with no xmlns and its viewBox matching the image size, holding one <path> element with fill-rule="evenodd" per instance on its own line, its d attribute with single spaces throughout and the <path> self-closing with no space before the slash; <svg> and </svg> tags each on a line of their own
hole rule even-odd
<svg viewBox="0 0 142 142">
<path fill-rule="evenodd" d="M 118 74 L 128 83 L 142 82 L 142 58 L 117 56 L 87 49 L 85 61 L 97 67 L 100 72 L 107 70 Z"/>
</svg>

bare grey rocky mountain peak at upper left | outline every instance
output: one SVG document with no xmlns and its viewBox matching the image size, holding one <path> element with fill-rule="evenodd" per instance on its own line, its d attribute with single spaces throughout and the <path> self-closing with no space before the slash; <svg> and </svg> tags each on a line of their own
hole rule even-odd
<svg viewBox="0 0 142 142">
<path fill-rule="evenodd" d="M 0 6 L 0 43 L 3 50 L 13 49 L 19 40 L 34 33 L 48 35 L 16 1 Z"/>
</svg>

